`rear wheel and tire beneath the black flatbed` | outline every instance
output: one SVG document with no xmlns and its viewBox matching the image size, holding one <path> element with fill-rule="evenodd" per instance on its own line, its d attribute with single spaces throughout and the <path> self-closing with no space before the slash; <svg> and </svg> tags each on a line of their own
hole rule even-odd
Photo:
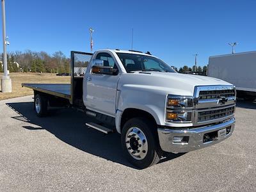
<svg viewBox="0 0 256 192">
<path fill-rule="evenodd" d="M 42 94 L 36 94 L 34 105 L 37 116 L 42 117 L 47 115 L 47 103 L 47 97 Z"/>
</svg>

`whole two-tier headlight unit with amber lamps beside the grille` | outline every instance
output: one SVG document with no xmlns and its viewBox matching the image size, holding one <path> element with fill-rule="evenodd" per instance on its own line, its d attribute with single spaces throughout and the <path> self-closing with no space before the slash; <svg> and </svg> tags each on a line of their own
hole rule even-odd
<svg viewBox="0 0 256 192">
<path fill-rule="evenodd" d="M 166 121 L 173 123 L 191 122 L 193 97 L 168 95 L 166 102 Z"/>
</svg>

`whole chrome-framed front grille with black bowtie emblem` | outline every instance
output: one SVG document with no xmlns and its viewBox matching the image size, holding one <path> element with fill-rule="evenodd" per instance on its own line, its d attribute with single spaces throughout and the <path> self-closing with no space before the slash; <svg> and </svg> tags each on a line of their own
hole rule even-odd
<svg viewBox="0 0 256 192">
<path fill-rule="evenodd" d="M 204 125 L 232 118 L 236 106 L 234 86 L 196 86 L 193 124 Z"/>
</svg>

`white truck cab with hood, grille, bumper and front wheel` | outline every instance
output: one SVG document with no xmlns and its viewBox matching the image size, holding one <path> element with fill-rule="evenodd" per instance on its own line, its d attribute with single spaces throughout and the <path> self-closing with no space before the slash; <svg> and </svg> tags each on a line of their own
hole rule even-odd
<svg viewBox="0 0 256 192">
<path fill-rule="evenodd" d="M 234 131 L 234 85 L 179 74 L 150 52 L 99 50 L 83 76 L 72 71 L 70 105 L 100 122 L 88 127 L 121 134 L 124 155 L 139 168 L 156 164 L 165 152 L 209 147 Z"/>
</svg>

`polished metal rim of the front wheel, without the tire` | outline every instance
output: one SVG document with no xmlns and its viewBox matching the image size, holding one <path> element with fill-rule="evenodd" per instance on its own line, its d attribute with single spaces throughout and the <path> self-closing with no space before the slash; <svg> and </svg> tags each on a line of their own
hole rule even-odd
<svg viewBox="0 0 256 192">
<path fill-rule="evenodd" d="M 136 160 L 144 159 L 148 152 L 148 142 L 144 132 L 131 127 L 125 136 L 125 145 L 129 154 Z"/>
</svg>

